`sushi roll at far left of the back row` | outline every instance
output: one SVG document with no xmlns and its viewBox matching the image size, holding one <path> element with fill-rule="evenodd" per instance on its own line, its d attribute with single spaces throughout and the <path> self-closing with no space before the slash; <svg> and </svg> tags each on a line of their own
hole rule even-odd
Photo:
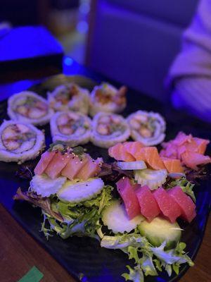
<svg viewBox="0 0 211 282">
<path fill-rule="evenodd" d="M 8 116 L 14 121 L 44 125 L 49 123 L 53 110 L 43 97 L 31 91 L 13 94 L 8 99 Z"/>
</svg>

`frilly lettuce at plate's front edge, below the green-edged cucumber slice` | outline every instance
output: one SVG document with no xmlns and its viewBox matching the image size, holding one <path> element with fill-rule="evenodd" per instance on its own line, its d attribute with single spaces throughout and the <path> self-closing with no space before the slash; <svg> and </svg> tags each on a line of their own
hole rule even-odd
<svg viewBox="0 0 211 282">
<path fill-rule="evenodd" d="M 139 234 L 138 228 L 133 233 L 104 236 L 101 240 L 101 247 L 120 249 L 133 260 L 134 268 L 127 266 L 129 273 L 122 276 L 126 281 L 134 282 L 142 282 L 144 276 L 157 276 L 158 271 L 162 270 L 167 271 L 169 276 L 172 271 L 178 274 L 180 265 L 184 263 L 193 266 L 192 260 L 184 252 L 185 243 L 177 243 L 177 247 L 172 250 L 165 250 L 165 245 L 163 242 L 160 247 L 154 247 Z"/>
</svg>

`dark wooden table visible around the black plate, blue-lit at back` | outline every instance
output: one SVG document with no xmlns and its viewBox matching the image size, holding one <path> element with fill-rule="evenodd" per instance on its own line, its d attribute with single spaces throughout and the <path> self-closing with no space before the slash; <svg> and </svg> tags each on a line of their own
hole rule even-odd
<svg viewBox="0 0 211 282">
<path fill-rule="evenodd" d="M 64 60 L 65 74 L 82 74 L 96 80 L 101 77 L 79 66 L 70 58 Z M 33 71 L 23 71 L 23 73 L 7 74 L 0 78 L 0 100 L 6 99 L 14 92 L 25 90 L 41 78 L 56 74 L 58 71 L 45 68 L 39 73 Z M 160 103 L 160 102 L 158 102 Z M 191 117 L 190 117 L 191 118 Z M 193 119 L 197 126 L 198 121 Z M 203 124 L 204 134 L 206 135 L 210 125 Z M 203 130 L 202 130 L 203 133 Z M 203 136 L 201 136 L 203 137 Z M 0 204 L 0 281 L 18 281 L 32 266 L 44 274 L 41 281 L 60 282 L 75 281 L 58 262 L 56 262 L 46 250 L 44 250 L 27 232 L 12 218 L 10 214 Z M 211 281 L 211 218 L 208 219 L 205 236 L 200 250 L 195 259 L 195 266 L 188 269 L 181 278 L 181 282 L 208 282 Z"/>
</svg>

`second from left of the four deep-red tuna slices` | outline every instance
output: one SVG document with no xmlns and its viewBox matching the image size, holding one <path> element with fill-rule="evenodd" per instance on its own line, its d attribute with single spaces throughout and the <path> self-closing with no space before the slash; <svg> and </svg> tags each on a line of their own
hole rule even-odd
<svg viewBox="0 0 211 282">
<path fill-rule="evenodd" d="M 139 188 L 136 189 L 136 197 L 139 201 L 141 214 L 145 216 L 148 221 L 152 221 L 160 214 L 160 208 L 147 185 L 142 187 L 139 185 Z"/>
</svg>

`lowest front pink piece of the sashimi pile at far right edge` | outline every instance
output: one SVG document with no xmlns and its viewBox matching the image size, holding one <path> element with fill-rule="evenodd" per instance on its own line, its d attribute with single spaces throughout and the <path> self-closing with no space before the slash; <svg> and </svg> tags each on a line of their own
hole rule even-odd
<svg viewBox="0 0 211 282">
<path fill-rule="evenodd" d="M 200 164 L 211 163 L 211 158 L 209 156 L 188 151 L 181 154 L 181 160 L 186 166 L 193 168 L 194 170 L 197 170 L 197 166 Z"/>
</svg>

